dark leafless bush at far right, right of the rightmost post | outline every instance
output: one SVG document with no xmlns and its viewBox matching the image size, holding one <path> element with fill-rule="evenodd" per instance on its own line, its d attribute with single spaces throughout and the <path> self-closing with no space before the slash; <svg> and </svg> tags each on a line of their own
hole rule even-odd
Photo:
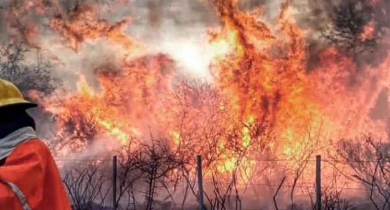
<svg viewBox="0 0 390 210">
<path fill-rule="evenodd" d="M 372 134 L 363 135 L 357 141 L 341 140 L 337 151 L 341 163 L 349 166 L 350 175 L 366 187 L 370 200 L 376 209 L 390 207 L 390 144 Z"/>
</svg>

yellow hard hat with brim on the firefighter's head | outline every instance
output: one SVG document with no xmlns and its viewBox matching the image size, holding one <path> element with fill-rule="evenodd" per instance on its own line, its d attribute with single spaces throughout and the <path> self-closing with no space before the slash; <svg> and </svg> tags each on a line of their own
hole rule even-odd
<svg viewBox="0 0 390 210">
<path fill-rule="evenodd" d="M 37 105 L 24 99 L 19 88 L 14 84 L 0 78 L 0 108 L 13 106 L 29 109 Z"/>
</svg>

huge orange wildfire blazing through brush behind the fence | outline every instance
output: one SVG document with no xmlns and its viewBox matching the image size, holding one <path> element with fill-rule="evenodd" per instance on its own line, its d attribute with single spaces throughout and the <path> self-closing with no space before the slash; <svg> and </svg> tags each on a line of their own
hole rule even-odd
<svg viewBox="0 0 390 210">
<path fill-rule="evenodd" d="M 369 114 L 389 85 L 389 58 L 358 70 L 343 49 L 327 46 L 316 67 L 308 69 L 306 32 L 294 22 L 289 1 L 281 7 L 276 28 L 261 22 L 261 14 L 241 10 L 239 1 L 210 2 L 221 22 L 207 30 L 211 84 L 178 81 L 169 56 L 150 55 L 141 41 L 125 34 L 130 19 L 110 23 L 82 3 L 62 11 L 57 3 L 27 1 L 12 13 L 31 15 L 27 9 L 38 8 L 41 16 L 56 8 L 49 27 L 75 54 L 83 43 L 97 39 L 123 48 L 119 67 L 96 69 L 96 81 L 77 73 L 76 91 L 31 94 L 55 117 L 57 152 L 82 151 L 97 137 L 111 139 L 113 147 L 132 143 L 136 149 L 155 135 L 169 139 L 180 157 L 194 160 L 202 154 L 205 164 L 220 173 L 240 163 L 246 174 L 242 179 L 248 181 L 261 157 L 299 161 L 308 147 L 323 152 L 319 148 L 329 139 L 385 131 L 385 122 Z M 40 27 L 32 28 L 23 35 L 28 40 Z M 360 38 L 371 39 L 374 30 L 370 22 Z"/>
</svg>

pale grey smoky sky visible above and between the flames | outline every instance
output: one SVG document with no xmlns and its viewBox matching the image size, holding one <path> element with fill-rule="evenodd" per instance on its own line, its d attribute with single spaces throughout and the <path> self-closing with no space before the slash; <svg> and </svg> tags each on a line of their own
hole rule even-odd
<svg viewBox="0 0 390 210">
<path fill-rule="evenodd" d="M 2 3 L 0 12 L 2 15 L 5 11 L 9 11 L 16 3 L 23 1 L 7 0 Z M 32 1 L 34 2 L 34 1 Z M 44 7 L 50 8 L 54 3 L 58 3 L 62 12 L 75 10 L 77 4 L 92 5 L 97 18 L 107 20 L 110 23 L 115 23 L 130 18 L 131 22 L 124 27 L 124 32 L 140 42 L 145 43 L 151 54 L 163 53 L 172 57 L 177 64 L 178 72 L 189 77 L 209 77 L 210 57 L 208 55 L 207 42 L 208 38 L 206 31 L 212 28 L 219 28 L 221 21 L 219 20 L 215 9 L 209 1 L 206 0 L 58 0 L 58 1 L 42 1 Z M 277 0 L 241 0 L 239 8 L 243 11 L 250 12 L 256 7 L 263 7 L 264 14 L 258 17 L 259 22 L 264 22 L 271 30 L 275 30 L 277 25 L 277 17 L 280 12 L 280 6 L 285 1 Z M 380 1 L 381 2 L 381 1 Z M 356 10 L 359 5 L 363 5 L 362 11 Z M 378 44 L 381 47 L 371 47 L 376 41 L 386 37 L 387 19 L 386 14 L 389 8 L 388 3 L 383 2 L 383 7 L 371 8 L 368 1 L 363 0 L 304 0 L 293 1 L 293 17 L 294 22 L 304 30 L 305 39 L 308 43 L 309 67 L 316 65 L 316 55 L 319 51 L 329 45 L 339 45 L 343 48 L 348 48 L 346 53 L 356 57 L 356 61 L 366 64 L 381 63 L 380 58 L 387 55 L 387 46 Z M 362 21 L 357 20 L 358 28 L 353 31 L 346 31 L 347 27 L 343 26 L 343 20 L 338 19 L 337 11 L 348 11 L 348 8 L 353 8 L 352 15 L 362 16 Z M 355 9 L 354 9 L 355 8 Z M 49 10 L 44 14 L 29 14 L 26 17 L 19 17 L 10 28 L 6 23 L 4 16 L 0 19 L 0 29 L 2 33 L 0 38 L 3 42 L 7 42 L 14 36 L 12 33 L 15 30 L 26 31 L 29 23 L 33 23 L 40 28 L 34 36 L 33 44 L 40 45 L 38 50 L 40 54 L 47 58 L 56 58 L 58 65 L 57 72 L 60 75 L 67 72 L 82 72 L 88 75 L 92 74 L 94 69 L 99 67 L 119 68 L 120 60 L 123 52 L 119 52 L 118 48 L 107 43 L 104 39 L 87 40 L 81 43 L 80 50 L 75 53 L 72 49 L 65 45 L 58 44 L 61 42 L 61 35 L 48 27 L 48 21 L 56 16 L 54 9 Z M 349 38 L 348 33 L 355 33 L 352 36 L 357 36 L 361 32 L 362 27 L 370 19 L 374 19 L 378 23 L 378 37 L 373 42 L 358 42 L 356 37 Z M 344 21 L 345 22 L 345 21 Z M 347 22 L 347 20 L 346 20 Z M 341 23 L 341 24 L 340 24 Z M 347 39 L 334 39 L 329 41 L 326 35 L 331 32 L 331 37 L 341 37 L 346 34 Z M 341 33 L 337 34 L 338 32 Z M 18 39 L 23 42 L 25 37 Z M 29 43 L 32 45 L 31 43 Z M 343 46 L 348 44 L 350 46 Z M 371 47 L 371 48 L 370 48 Z M 350 50 L 349 50 L 350 49 Z M 32 49 L 32 55 L 27 60 L 34 60 L 36 55 L 35 49 Z M 369 52 L 369 53 L 367 53 Z M 363 56 L 362 56 L 363 55 Z M 375 59 L 372 59 L 375 58 Z"/>
</svg>

